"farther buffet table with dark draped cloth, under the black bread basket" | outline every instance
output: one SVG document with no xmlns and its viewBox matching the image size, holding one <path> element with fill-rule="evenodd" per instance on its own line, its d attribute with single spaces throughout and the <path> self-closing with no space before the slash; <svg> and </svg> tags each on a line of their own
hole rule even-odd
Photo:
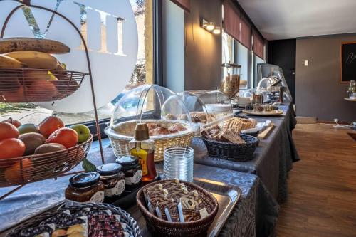
<svg viewBox="0 0 356 237">
<path fill-rule="evenodd" d="M 294 129 L 296 120 L 291 103 L 279 106 L 283 110 L 283 116 L 279 117 L 253 117 L 258 122 L 271 120 L 275 127 L 266 139 L 261 139 L 253 154 L 253 159 L 248 162 L 232 162 L 226 159 L 209 157 L 204 142 L 194 138 L 194 162 L 211 167 L 231 169 L 239 172 L 256 174 L 263 184 L 273 194 L 278 202 L 283 203 L 288 196 L 287 176 L 292 169 L 293 162 L 299 160 L 298 152 L 292 139 L 291 131 Z"/>
</svg>

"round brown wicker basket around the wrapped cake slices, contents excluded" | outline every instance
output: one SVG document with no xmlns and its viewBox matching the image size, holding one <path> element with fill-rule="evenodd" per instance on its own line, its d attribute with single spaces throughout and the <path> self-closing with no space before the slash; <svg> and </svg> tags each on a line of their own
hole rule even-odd
<svg viewBox="0 0 356 237">
<path fill-rule="evenodd" d="M 201 200 L 206 207 L 206 211 L 209 213 L 209 216 L 206 216 L 199 221 L 179 223 L 164 221 L 161 218 L 151 214 L 150 211 L 147 210 L 143 189 L 147 188 L 148 186 L 164 183 L 167 181 L 169 180 L 155 181 L 151 184 L 147 184 L 146 186 L 142 187 L 140 191 L 138 191 L 136 196 L 137 206 L 139 207 L 142 215 L 145 217 L 147 227 L 149 227 L 150 231 L 154 232 L 154 235 L 152 236 L 206 236 L 206 231 L 214 221 L 214 218 L 218 212 L 219 204 L 215 197 L 209 193 L 209 191 L 206 191 L 196 184 L 181 181 L 185 184 L 189 191 L 198 191 L 199 196 L 201 197 Z"/>
</svg>

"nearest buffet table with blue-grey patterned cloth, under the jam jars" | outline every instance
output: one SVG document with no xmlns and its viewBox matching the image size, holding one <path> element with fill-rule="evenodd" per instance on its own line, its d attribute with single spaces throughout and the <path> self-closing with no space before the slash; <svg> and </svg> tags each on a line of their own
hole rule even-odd
<svg viewBox="0 0 356 237">
<path fill-rule="evenodd" d="M 105 158 L 112 162 L 115 160 L 112 149 L 108 145 L 106 147 Z M 90 153 L 90 161 L 100 164 L 97 149 Z M 159 167 L 162 167 L 162 163 Z M 81 165 L 78 165 L 73 171 L 80 169 Z M 194 164 L 194 177 L 224 182 L 242 191 L 241 199 L 224 223 L 220 236 L 269 236 L 273 232 L 279 206 L 256 175 Z M 63 201 L 69 178 L 60 177 L 57 180 L 28 184 L 0 201 L 0 231 Z M 0 192 L 3 194 L 9 189 L 0 189 Z"/>
</svg>

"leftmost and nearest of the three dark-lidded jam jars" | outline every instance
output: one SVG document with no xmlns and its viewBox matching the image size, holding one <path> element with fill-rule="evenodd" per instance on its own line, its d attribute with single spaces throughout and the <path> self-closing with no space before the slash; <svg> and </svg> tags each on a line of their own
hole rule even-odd
<svg viewBox="0 0 356 237">
<path fill-rule="evenodd" d="M 75 174 L 69 179 L 65 196 L 68 205 L 86 202 L 102 203 L 104 184 L 100 181 L 100 174 L 97 172 Z"/>
</svg>

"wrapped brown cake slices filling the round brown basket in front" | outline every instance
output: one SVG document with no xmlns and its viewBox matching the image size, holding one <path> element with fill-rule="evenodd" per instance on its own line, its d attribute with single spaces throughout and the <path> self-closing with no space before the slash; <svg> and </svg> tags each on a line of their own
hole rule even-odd
<svg viewBox="0 0 356 237">
<path fill-rule="evenodd" d="M 184 183 L 174 179 L 143 189 L 148 210 L 165 221 L 198 221 L 209 216 L 196 190 L 188 191 Z"/>
</svg>

